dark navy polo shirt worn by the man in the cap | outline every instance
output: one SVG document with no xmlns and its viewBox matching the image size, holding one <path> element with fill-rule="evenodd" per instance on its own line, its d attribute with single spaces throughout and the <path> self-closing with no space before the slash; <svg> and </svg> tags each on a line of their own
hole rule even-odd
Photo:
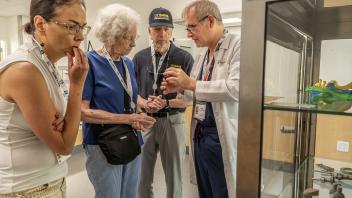
<svg viewBox="0 0 352 198">
<path fill-rule="evenodd" d="M 160 55 L 156 55 L 156 65 L 159 65 Z M 193 57 L 187 51 L 176 47 L 172 42 L 170 49 L 161 65 L 161 69 L 158 73 L 157 78 L 157 90 L 156 95 L 161 95 L 160 84 L 163 80 L 163 73 L 166 68 L 171 65 L 179 65 L 189 75 L 193 66 Z M 152 62 L 152 55 L 150 47 L 139 51 L 133 57 L 133 63 L 136 71 L 136 78 L 138 84 L 138 93 L 143 98 L 148 98 L 148 96 L 153 95 L 153 83 L 154 83 L 154 66 Z M 176 93 L 167 94 L 166 99 L 176 98 Z"/>
</svg>

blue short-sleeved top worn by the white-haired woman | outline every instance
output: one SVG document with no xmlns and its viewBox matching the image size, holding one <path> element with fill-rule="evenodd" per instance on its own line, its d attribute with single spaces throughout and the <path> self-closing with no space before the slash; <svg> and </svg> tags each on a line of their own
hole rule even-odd
<svg viewBox="0 0 352 198">
<path fill-rule="evenodd" d="M 108 60 L 96 51 L 87 53 L 89 72 L 84 84 L 83 100 L 90 101 L 91 109 L 100 109 L 111 113 L 124 113 L 124 88 L 111 68 Z M 131 75 L 131 84 L 133 89 L 133 101 L 137 104 L 137 82 L 132 61 L 123 57 L 128 71 Z M 120 74 L 124 74 L 122 61 L 114 61 Z M 138 133 L 140 142 L 142 142 L 141 134 Z M 91 131 L 90 124 L 83 124 L 83 144 L 96 144 L 95 136 Z"/>
</svg>

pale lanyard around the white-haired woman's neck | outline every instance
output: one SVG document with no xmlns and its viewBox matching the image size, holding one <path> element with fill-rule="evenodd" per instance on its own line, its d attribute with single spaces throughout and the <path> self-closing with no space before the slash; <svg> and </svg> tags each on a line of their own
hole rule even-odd
<svg viewBox="0 0 352 198">
<path fill-rule="evenodd" d="M 125 67 L 125 71 L 126 71 L 126 82 L 127 82 L 127 84 L 123 80 L 119 70 L 117 69 L 114 61 L 112 60 L 112 58 L 111 58 L 110 54 L 108 53 L 108 51 L 106 50 L 105 46 L 102 47 L 102 52 L 103 52 L 104 57 L 109 61 L 109 64 L 110 64 L 111 68 L 114 70 L 116 76 L 119 78 L 123 88 L 125 89 L 127 94 L 130 96 L 130 98 L 131 98 L 131 108 L 134 110 L 136 108 L 136 105 L 134 104 L 133 98 L 132 98 L 133 90 L 132 90 L 132 84 L 131 84 L 131 76 L 130 76 L 130 72 L 129 72 L 126 64 L 125 64 L 125 61 L 123 60 L 123 58 L 121 58 L 122 66 Z"/>
</svg>

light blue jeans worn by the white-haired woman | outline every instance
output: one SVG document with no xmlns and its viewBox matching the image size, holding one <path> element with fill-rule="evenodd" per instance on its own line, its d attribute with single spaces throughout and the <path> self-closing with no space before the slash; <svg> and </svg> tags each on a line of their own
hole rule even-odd
<svg viewBox="0 0 352 198">
<path fill-rule="evenodd" d="M 141 170 L 141 157 L 125 165 L 111 165 L 98 145 L 85 145 L 86 170 L 96 198 L 135 198 Z"/>
</svg>

